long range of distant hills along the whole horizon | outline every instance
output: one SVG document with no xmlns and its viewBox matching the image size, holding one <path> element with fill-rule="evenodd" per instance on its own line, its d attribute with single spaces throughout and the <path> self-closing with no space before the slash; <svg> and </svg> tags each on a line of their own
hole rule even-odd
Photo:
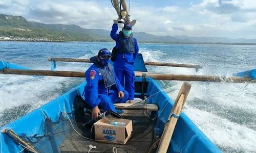
<svg viewBox="0 0 256 153">
<path fill-rule="evenodd" d="M 27 21 L 22 16 L 0 14 L 0 37 L 41 38 L 59 41 L 113 41 L 110 32 L 102 29 L 84 29 L 75 24 L 44 24 Z M 156 36 L 134 32 L 140 42 L 155 43 L 255 43 L 256 39 L 225 37 Z"/>
</svg>

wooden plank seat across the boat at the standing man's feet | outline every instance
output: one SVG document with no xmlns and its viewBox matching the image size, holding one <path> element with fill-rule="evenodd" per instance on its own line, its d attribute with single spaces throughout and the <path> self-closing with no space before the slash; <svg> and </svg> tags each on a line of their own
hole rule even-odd
<svg viewBox="0 0 256 153">
<path fill-rule="evenodd" d="M 132 106 L 131 106 L 132 105 Z M 121 110 L 147 110 L 147 111 L 157 111 L 158 107 L 155 104 L 126 104 L 126 103 L 119 103 L 114 104 L 116 109 Z"/>
</svg>

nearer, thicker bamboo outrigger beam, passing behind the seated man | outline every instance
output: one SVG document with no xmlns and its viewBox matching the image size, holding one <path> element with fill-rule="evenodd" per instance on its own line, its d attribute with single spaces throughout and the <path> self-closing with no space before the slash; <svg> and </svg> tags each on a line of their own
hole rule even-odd
<svg viewBox="0 0 256 153">
<path fill-rule="evenodd" d="M 21 75 L 46 75 L 55 77 L 77 77 L 84 78 L 82 71 L 55 71 L 55 70 L 23 70 L 23 69 L 7 69 L 0 71 L 2 74 L 21 74 Z M 157 74 L 157 73 L 142 73 L 135 72 L 136 77 L 148 77 L 155 80 L 169 80 L 169 81 L 201 81 L 201 82 L 233 82 L 256 83 L 256 80 L 243 77 L 220 77 L 212 75 L 181 75 L 181 74 Z"/>
</svg>

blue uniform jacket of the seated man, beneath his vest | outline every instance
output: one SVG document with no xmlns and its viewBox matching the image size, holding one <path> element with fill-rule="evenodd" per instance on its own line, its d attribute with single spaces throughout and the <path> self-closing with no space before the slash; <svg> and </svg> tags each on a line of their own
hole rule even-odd
<svg viewBox="0 0 256 153">
<path fill-rule="evenodd" d="M 102 74 L 100 73 L 99 68 L 95 64 L 89 67 L 84 75 L 86 76 L 87 81 L 86 87 L 84 88 L 84 98 L 92 108 L 95 108 L 99 105 L 100 101 L 97 100 L 98 94 L 113 93 L 113 90 L 116 90 L 118 92 L 124 90 L 119 80 L 117 79 L 116 74 L 116 84 L 106 88 L 102 78 Z"/>
</svg>

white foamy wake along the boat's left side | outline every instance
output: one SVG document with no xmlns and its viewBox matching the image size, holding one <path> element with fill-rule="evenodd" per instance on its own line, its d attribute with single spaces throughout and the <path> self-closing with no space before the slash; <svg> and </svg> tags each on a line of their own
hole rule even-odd
<svg viewBox="0 0 256 153">
<path fill-rule="evenodd" d="M 84 72 L 88 63 L 57 62 L 55 70 L 72 70 Z M 35 67 L 50 69 L 50 67 Z M 63 88 L 71 89 L 84 78 L 44 77 L 28 75 L 0 75 L 0 117 L 6 109 L 30 105 L 28 112 L 46 104 L 63 93 Z M 73 87 L 72 87 L 73 84 Z M 1 124 L 1 123 L 0 123 Z"/>
</svg>

